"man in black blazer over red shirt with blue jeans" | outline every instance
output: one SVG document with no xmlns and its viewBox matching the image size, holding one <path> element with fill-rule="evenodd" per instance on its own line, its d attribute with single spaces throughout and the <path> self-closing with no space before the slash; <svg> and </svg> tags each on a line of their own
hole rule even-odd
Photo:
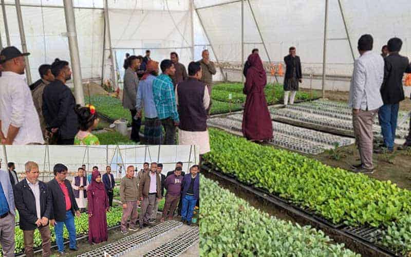
<svg viewBox="0 0 411 257">
<path fill-rule="evenodd" d="M 70 240 L 70 250 L 77 251 L 76 245 L 76 226 L 74 226 L 74 214 L 80 216 L 79 207 L 77 207 L 74 198 L 73 189 L 70 181 L 66 179 L 67 167 L 61 163 L 55 164 L 53 168 L 54 179 L 47 183 L 50 190 L 53 203 L 53 211 L 50 215 L 50 224 L 54 226 L 55 241 L 58 251 L 65 255 L 63 244 L 63 224 L 66 225 Z"/>
</svg>

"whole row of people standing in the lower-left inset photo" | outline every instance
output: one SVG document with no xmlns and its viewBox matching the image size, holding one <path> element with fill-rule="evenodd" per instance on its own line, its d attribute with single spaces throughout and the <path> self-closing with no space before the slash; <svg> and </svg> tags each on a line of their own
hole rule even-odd
<svg viewBox="0 0 411 257">
<path fill-rule="evenodd" d="M 199 167 L 194 165 L 190 173 L 182 172 L 182 162 L 176 168 L 161 174 L 163 165 L 153 162 L 137 175 L 134 166 L 128 166 L 120 183 L 120 198 L 123 207 L 121 232 L 137 231 L 137 207 L 141 205 L 139 228 L 156 222 L 158 205 L 165 194 L 165 205 L 160 222 L 172 219 L 178 213 L 181 220 L 191 224 L 194 207 L 199 205 Z M 64 164 L 55 164 L 54 178 L 45 183 L 39 180 L 39 166 L 33 161 L 25 164 L 25 178 L 18 179 L 13 162 L 8 171 L 0 170 L 0 244 L 4 256 L 14 256 L 15 209 L 20 216 L 19 226 L 23 230 L 25 254 L 33 256 L 34 230 L 42 238 L 43 256 L 51 255 L 50 226 L 54 227 L 58 255 L 66 255 L 63 241 L 63 226 L 69 234 L 69 249 L 77 251 L 74 216 L 88 214 L 88 241 L 98 244 L 108 239 L 106 213 L 113 206 L 115 178 L 111 167 L 102 175 L 97 166 L 86 176 L 85 165 L 78 169 L 72 181 L 66 179 L 68 169 Z M 178 207 L 178 210 L 177 210 Z M 177 210 L 177 212 L 176 212 Z M 175 213 L 176 212 L 176 213 Z"/>
</svg>

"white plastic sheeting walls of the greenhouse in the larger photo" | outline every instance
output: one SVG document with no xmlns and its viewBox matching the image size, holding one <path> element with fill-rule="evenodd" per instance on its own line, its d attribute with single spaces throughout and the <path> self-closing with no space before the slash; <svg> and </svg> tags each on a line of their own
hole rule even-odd
<svg viewBox="0 0 411 257">
<path fill-rule="evenodd" d="M 198 8 L 190 13 L 191 3 Z M 9 31 L 13 45 L 21 47 L 14 1 L 6 0 Z M 69 59 L 62 0 L 21 0 L 28 50 L 32 53 L 31 73 L 38 78 L 36 69 L 55 57 Z M 104 0 L 73 0 L 80 47 L 83 79 L 101 77 L 103 52 Z M 233 0 L 108 0 L 111 43 L 116 49 L 117 71 L 121 72 L 125 52 L 144 54 L 152 48 L 152 57 L 158 61 L 169 58 L 171 51 L 180 55 L 184 65 L 200 59 L 203 49 L 211 49 L 226 67 L 240 68 L 253 48 L 259 48 L 264 61 L 269 58 L 264 50 L 264 40 L 269 57 L 275 64 L 283 62 L 288 48 L 295 46 L 301 57 L 304 74 L 321 75 L 323 68 L 324 0 L 250 0 L 244 1 L 244 58 L 241 57 L 241 1 Z M 27 5 L 43 5 L 30 7 Z M 251 8 L 254 11 L 254 22 Z M 401 54 L 411 57 L 411 2 L 409 0 L 341 0 L 348 35 L 354 57 L 358 57 L 357 41 L 361 34 L 372 34 L 374 50 L 393 36 L 403 40 Z M 47 7 L 49 6 L 49 7 Z M 60 6 L 52 8 L 51 6 Z M 192 21 L 193 16 L 193 21 Z M 2 17 L 2 14 L 0 14 Z M 51 22 L 52 21 L 52 22 Z M 44 25 L 43 25 L 44 23 Z M 194 24 L 194 26 L 192 25 Z M 0 19 L 3 25 L 3 19 Z M 193 31 L 194 30 L 194 40 Z M 5 45 L 4 26 L 0 26 Z M 329 0 L 327 40 L 327 75 L 349 79 L 353 59 L 338 0 Z M 194 46 L 193 46 L 194 41 Z M 108 47 L 108 45 L 106 45 Z M 119 49 L 125 48 L 125 49 Z M 156 49 L 159 48 L 159 49 Z M 109 53 L 104 60 L 104 78 L 110 77 Z M 268 64 L 268 63 L 266 63 Z M 220 70 L 214 80 L 221 80 Z M 239 77 L 238 77 L 239 78 Z M 281 82 L 281 81 L 280 81 Z M 328 81 L 328 87 L 334 82 Z M 347 87 L 345 83 L 344 87 Z M 339 87 L 339 86 L 337 86 Z M 341 89 L 341 88 L 340 88 Z"/>
</svg>

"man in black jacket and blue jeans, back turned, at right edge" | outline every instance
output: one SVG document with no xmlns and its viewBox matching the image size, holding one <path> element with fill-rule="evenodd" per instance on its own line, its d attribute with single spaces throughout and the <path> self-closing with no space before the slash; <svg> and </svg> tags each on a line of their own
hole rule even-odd
<svg viewBox="0 0 411 257">
<path fill-rule="evenodd" d="M 388 40 L 387 46 L 389 56 L 384 58 L 384 80 L 380 89 L 384 105 L 378 111 L 384 143 L 374 150 L 375 153 L 394 151 L 399 103 L 404 100 L 402 78 L 404 72 L 411 72 L 408 58 L 399 54 L 402 47 L 401 39 L 392 38 Z"/>
</svg>

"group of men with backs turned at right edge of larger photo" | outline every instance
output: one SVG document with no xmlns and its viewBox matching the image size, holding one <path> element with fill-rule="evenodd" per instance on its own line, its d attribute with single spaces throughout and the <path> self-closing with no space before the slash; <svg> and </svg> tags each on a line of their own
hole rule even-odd
<svg viewBox="0 0 411 257">
<path fill-rule="evenodd" d="M 411 72 L 408 58 L 399 54 L 402 41 L 388 40 L 382 54 L 372 52 L 373 38 L 364 34 L 358 40 L 360 57 L 354 62 L 349 106 L 352 108 L 352 123 L 361 163 L 351 168 L 358 173 L 373 173 L 373 132 L 372 123 L 378 114 L 383 143 L 375 153 L 392 153 L 397 128 L 399 102 L 404 100 L 404 72 Z M 404 149 L 411 146 L 410 131 Z"/>
</svg>

